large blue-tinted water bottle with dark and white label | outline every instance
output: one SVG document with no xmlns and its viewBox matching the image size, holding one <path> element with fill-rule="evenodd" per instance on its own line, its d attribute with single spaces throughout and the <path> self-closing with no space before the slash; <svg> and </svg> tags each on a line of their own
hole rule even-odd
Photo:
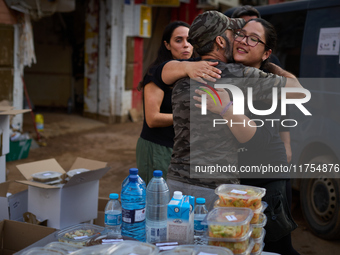
<svg viewBox="0 0 340 255">
<path fill-rule="evenodd" d="M 128 184 L 122 189 L 122 235 L 145 242 L 146 193 L 137 175 L 130 175 Z"/>
</svg>

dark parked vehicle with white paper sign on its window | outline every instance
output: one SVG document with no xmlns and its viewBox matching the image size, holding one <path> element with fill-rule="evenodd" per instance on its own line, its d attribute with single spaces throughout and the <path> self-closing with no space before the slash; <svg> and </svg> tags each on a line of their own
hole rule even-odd
<svg viewBox="0 0 340 255">
<path fill-rule="evenodd" d="M 292 164 L 329 167 L 340 163 L 340 2 L 301 0 L 256 7 L 278 34 L 276 56 L 311 92 L 304 106 L 312 116 L 291 111 Z M 225 14 L 231 16 L 233 9 Z M 331 55 L 334 54 L 334 55 Z M 309 165 L 304 165 L 309 164 Z M 311 165 L 315 164 L 315 165 Z M 305 168 L 304 168 L 305 169 Z M 304 171 L 303 171 L 304 172 Z M 340 172 L 314 170 L 293 180 L 310 229 L 324 239 L 340 238 Z"/>
</svg>

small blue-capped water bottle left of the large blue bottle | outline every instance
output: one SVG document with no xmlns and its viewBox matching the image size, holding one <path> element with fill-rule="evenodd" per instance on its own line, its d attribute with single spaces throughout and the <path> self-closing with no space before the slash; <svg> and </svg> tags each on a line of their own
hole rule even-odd
<svg viewBox="0 0 340 255">
<path fill-rule="evenodd" d="M 122 206 L 118 198 L 118 194 L 110 194 L 110 201 L 107 202 L 105 207 L 105 227 L 108 232 L 120 235 L 122 227 Z"/>
</svg>

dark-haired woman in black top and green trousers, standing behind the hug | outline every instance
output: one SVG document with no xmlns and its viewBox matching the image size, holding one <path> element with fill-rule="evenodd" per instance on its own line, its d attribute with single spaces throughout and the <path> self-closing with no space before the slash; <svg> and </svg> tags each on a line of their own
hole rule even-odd
<svg viewBox="0 0 340 255">
<path fill-rule="evenodd" d="M 157 58 L 139 84 L 139 90 L 143 90 L 144 121 L 136 158 L 139 175 L 146 184 L 154 170 L 162 170 L 166 178 L 174 138 L 172 88 L 153 79 L 154 68 L 165 61 L 192 57 L 193 47 L 187 41 L 188 32 L 189 25 L 182 21 L 172 22 L 165 28 Z"/>
</svg>

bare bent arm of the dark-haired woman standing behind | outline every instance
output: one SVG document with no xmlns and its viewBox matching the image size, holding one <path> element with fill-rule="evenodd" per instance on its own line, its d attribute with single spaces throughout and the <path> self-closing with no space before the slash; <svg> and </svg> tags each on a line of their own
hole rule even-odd
<svg viewBox="0 0 340 255">
<path fill-rule="evenodd" d="M 173 123 L 172 113 L 161 113 L 164 91 L 150 82 L 144 87 L 145 120 L 150 128 L 168 127 Z"/>
</svg>

